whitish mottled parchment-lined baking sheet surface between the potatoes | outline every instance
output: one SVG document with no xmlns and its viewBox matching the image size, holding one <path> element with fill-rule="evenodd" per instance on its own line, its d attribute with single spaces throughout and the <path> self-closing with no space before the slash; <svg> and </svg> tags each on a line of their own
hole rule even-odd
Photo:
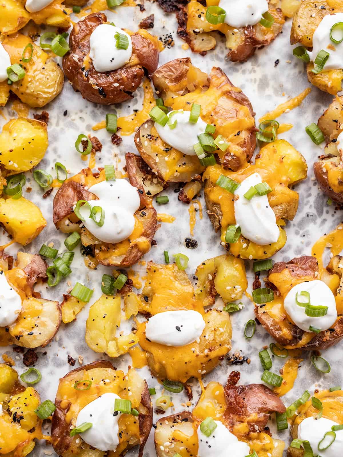
<svg viewBox="0 0 343 457">
<path fill-rule="evenodd" d="M 221 67 L 229 76 L 232 82 L 241 87 L 243 92 L 252 102 L 252 106 L 256 111 L 256 120 L 266 112 L 272 110 L 275 106 L 286 101 L 290 97 L 298 95 L 306 87 L 310 86 L 305 74 L 305 68 L 302 62 L 292 56 L 292 49 L 289 45 L 289 32 L 291 21 L 288 20 L 284 26 L 283 33 L 267 48 L 257 51 L 248 62 L 244 64 L 234 64 L 225 59 L 224 41 L 218 39 L 218 46 L 214 51 L 209 52 L 205 57 L 193 54 L 190 49 L 184 50 L 182 44 L 184 42 L 177 37 L 177 21 L 175 15 L 165 14 L 158 7 L 157 3 L 145 2 L 146 11 L 139 11 L 139 8 L 119 6 L 114 12 L 105 11 L 109 21 L 113 21 L 118 27 L 127 27 L 131 30 L 138 28 L 139 21 L 151 13 L 155 14 L 155 27 L 149 31 L 162 39 L 171 34 L 175 45 L 171 48 L 166 48 L 160 55 L 160 65 L 164 64 L 173 58 L 186 57 L 192 58 L 193 64 L 198 66 L 203 71 L 209 72 L 212 66 Z M 75 17 L 74 17 L 75 19 Z M 279 59 L 279 64 L 275 65 L 275 61 Z M 60 60 L 59 60 L 60 61 Z M 282 95 L 284 93 L 284 95 Z M 75 93 L 69 82 L 66 80 L 62 93 L 43 110 L 49 112 L 48 135 L 49 146 L 47 153 L 38 168 L 42 168 L 54 174 L 54 163 L 62 162 L 74 175 L 87 162 L 80 158 L 80 154 L 75 152 L 74 143 L 79 133 L 91 133 L 101 141 L 103 147 L 102 152 L 96 154 L 96 165 L 103 166 L 108 163 L 118 161 L 119 169 L 125 165 L 124 154 L 128 151 L 136 153 L 134 146 L 133 135 L 123 137 L 123 142 L 119 146 L 111 143 L 110 134 L 105 129 L 98 132 L 91 130 L 91 127 L 105 119 L 107 112 L 117 113 L 118 116 L 131 114 L 134 109 L 141 109 L 143 98 L 143 88 L 137 90 L 132 101 L 128 101 L 119 106 L 102 107 L 93 105 L 82 99 L 80 93 Z M 289 260 L 294 256 L 310 255 L 312 244 L 322 236 L 335 228 L 342 221 L 342 213 L 335 211 L 335 206 L 326 204 L 325 197 L 320 190 L 316 181 L 312 165 L 317 156 L 322 150 L 311 142 L 310 138 L 305 133 L 305 126 L 311 122 L 317 122 L 318 117 L 323 110 L 327 108 L 332 100 L 332 96 L 324 94 L 315 87 L 312 87 L 311 94 L 305 99 L 300 107 L 284 114 L 278 120 L 280 122 L 289 122 L 294 124 L 289 132 L 279 135 L 279 138 L 285 138 L 293 146 L 298 149 L 304 156 L 308 164 L 308 178 L 295 187 L 295 190 L 300 194 L 299 209 L 293 221 L 287 222 L 286 232 L 288 236 L 287 244 L 284 248 L 274 255 L 273 260 Z M 64 111 L 67 114 L 64 116 Z M 33 112 L 41 112 L 41 110 L 30 110 L 30 117 Z M 0 117 L 0 127 L 2 127 L 12 117 L 17 117 L 16 112 L 11 109 L 11 102 L 3 109 L 4 117 Z M 256 152 L 257 153 L 257 152 Z M 50 171 L 51 170 L 51 171 Z M 27 174 L 26 189 L 31 187 L 32 191 L 28 194 L 24 191 L 24 196 L 35 202 L 42 210 L 44 217 L 48 221 L 48 225 L 43 232 L 31 244 L 25 247 L 25 251 L 36 253 L 43 243 L 54 243 L 54 247 L 64 250 L 65 235 L 60 234 L 54 227 L 52 222 L 52 202 L 55 191 L 46 199 L 42 199 L 42 190 L 38 188 L 38 184 L 33 180 L 31 172 Z M 169 196 L 169 203 L 163 207 L 158 207 L 158 212 L 165 212 L 173 215 L 176 220 L 174 223 L 162 223 L 161 228 L 155 234 L 157 245 L 153 246 L 143 260 L 154 260 L 155 262 L 164 263 L 163 251 L 168 250 L 170 255 L 176 252 L 182 252 L 190 258 L 188 263 L 188 275 L 193 277 L 194 271 L 198 264 L 203 260 L 215 255 L 223 254 L 225 251 L 220 246 L 219 234 L 215 234 L 209 218 L 206 214 L 204 205 L 203 191 L 201 192 L 200 201 L 203 205 L 203 219 L 199 219 L 199 212 L 196 215 L 197 222 L 194 229 L 193 238 L 198 241 L 198 247 L 195 250 L 188 250 L 185 247 L 184 239 L 190 236 L 189 233 L 189 214 L 188 206 L 178 202 L 177 193 L 174 190 L 176 185 L 171 185 L 169 189 L 163 192 Z M 4 238 L 4 237 L 3 237 Z M 8 241 L 2 239 L 1 241 Z M 11 246 L 10 252 L 16 251 L 16 247 Z M 75 258 L 73 261 L 73 273 L 68 277 L 68 281 L 74 284 L 76 281 L 83 282 L 86 286 L 94 288 L 92 300 L 85 308 L 77 315 L 77 319 L 71 324 L 61 324 L 59 332 L 54 341 L 49 344 L 44 350 L 38 348 L 38 361 L 36 367 L 42 372 L 43 379 L 35 387 L 44 399 L 54 401 L 57 390 L 59 377 L 64 376 L 73 367 L 67 363 L 68 354 L 75 360 L 75 367 L 79 366 L 78 357 L 83 357 L 83 364 L 90 363 L 99 358 L 111 360 L 118 369 L 125 372 L 131 359 L 129 355 L 122 356 L 118 359 L 110 359 L 107 356 L 102 356 L 91 351 L 84 340 L 85 324 L 88 317 L 88 310 L 92 303 L 101 295 L 100 283 L 102 274 L 109 272 L 103 266 L 98 266 L 96 271 L 89 270 L 84 266 L 83 257 L 79 250 L 76 249 Z M 249 279 L 248 292 L 251 291 L 253 273 L 252 262 L 247 261 L 247 276 Z M 134 270 L 138 271 L 141 276 L 145 274 L 144 266 L 136 265 Z M 44 286 L 39 291 L 42 292 L 44 298 L 57 299 L 59 302 L 63 299 L 63 293 L 67 292 L 68 285 L 66 281 L 59 283 L 57 287 L 48 288 Z M 135 291 L 137 292 L 137 291 Z M 251 363 L 243 363 L 242 366 L 232 366 L 225 359 L 221 366 L 217 367 L 213 372 L 204 377 L 205 385 L 216 380 L 225 383 L 228 374 L 233 370 L 241 372 L 241 383 L 258 383 L 262 375 L 262 367 L 258 358 L 258 351 L 264 345 L 269 345 L 273 342 L 268 333 L 263 330 L 262 326 L 256 328 L 256 333 L 252 340 L 246 340 L 243 335 L 245 323 L 249 319 L 254 319 L 253 304 L 243 298 L 245 307 L 239 313 L 235 313 L 231 317 L 233 337 L 231 354 L 239 352 L 242 356 L 247 356 L 251 359 Z M 220 306 L 220 303 L 218 303 Z M 46 354 L 45 354 L 46 351 Z M 337 363 L 339 360 L 338 351 L 340 345 L 335 346 L 325 352 L 325 358 L 329 361 L 332 371 L 329 374 L 322 374 L 310 364 L 309 354 L 304 353 L 304 361 L 300 365 L 299 374 L 295 381 L 294 388 L 283 397 L 286 405 L 290 404 L 294 399 L 298 398 L 301 393 L 308 388 L 310 392 L 316 388 L 328 388 L 329 386 L 338 385 L 341 383 L 343 367 Z M 22 355 L 16 354 L 11 347 L 2 348 L 2 353 L 15 358 L 16 370 L 21 373 L 26 371 L 26 367 L 22 363 Z M 19 360 L 18 360 L 19 359 Z M 273 358 L 273 372 L 278 372 L 279 368 L 284 364 L 283 359 L 275 360 Z M 159 397 L 161 388 L 157 380 L 150 376 L 147 367 L 138 370 L 142 377 L 148 381 L 149 387 L 156 388 L 155 399 Z M 198 399 L 200 386 L 198 381 L 193 380 L 193 405 Z M 153 398 L 153 399 L 154 399 Z M 154 400 L 153 400 L 154 401 Z M 184 406 L 181 404 L 187 401 L 184 393 L 172 395 L 174 407 L 169 409 L 166 414 L 182 411 Z M 155 405 L 154 405 L 155 406 Z M 193 406 L 189 408 L 192 410 Z M 159 416 L 154 414 L 154 423 Z M 273 430 L 273 421 L 268 424 Z M 149 441 L 145 446 L 144 456 L 155 456 L 153 446 L 153 429 L 150 434 Z M 49 429 L 44 430 L 45 433 Z M 274 433 L 273 436 L 286 441 L 286 449 L 289 443 L 289 430 L 279 434 Z M 46 445 L 41 441 L 36 445 L 31 453 L 32 457 L 51 455 L 54 451 L 50 445 Z M 129 452 L 128 455 L 137 455 L 137 449 Z"/>
</svg>

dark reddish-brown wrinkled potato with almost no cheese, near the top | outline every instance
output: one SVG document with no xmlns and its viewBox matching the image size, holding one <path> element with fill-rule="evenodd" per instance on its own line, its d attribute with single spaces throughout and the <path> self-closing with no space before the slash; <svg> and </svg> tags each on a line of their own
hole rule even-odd
<svg viewBox="0 0 343 457">
<path fill-rule="evenodd" d="M 84 98 L 101 105 L 113 105 L 132 98 L 132 93 L 142 82 L 144 69 L 146 68 L 150 74 L 157 68 L 159 51 L 152 40 L 135 33 L 131 35 L 131 64 L 125 64 L 117 70 L 98 73 L 89 59 L 89 68 L 85 69 L 84 59 L 90 52 L 89 37 L 97 26 L 106 22 L 107 17 L 104 13 L 92 13 L 75 24 L 70 32 L 70 52 L 63 58 L 63 69 L 74 90 L 79 90 Z M 74 54 L 79 56 L 77 62 L 74 60 Z"/>
</svg>

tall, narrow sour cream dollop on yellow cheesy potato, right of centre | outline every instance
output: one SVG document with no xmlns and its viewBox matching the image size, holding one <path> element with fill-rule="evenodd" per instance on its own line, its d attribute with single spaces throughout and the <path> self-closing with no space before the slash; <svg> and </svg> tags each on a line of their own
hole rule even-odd
<svg viewBox="0 0 343 457">
<path fill-rule="evenodd" d="M 269 205 L 267 195 L 258 195 L 247 200 L 244 194 L 252 186 L 262 182 L 258 173 L 248 176 L 234 192 L 238 200 L 234 202 L 236 224 L 241 227 L 242 235 L 256 244 L 276 243 L 280 230 L 276 224 L 276 217 Z"/>
</svg>

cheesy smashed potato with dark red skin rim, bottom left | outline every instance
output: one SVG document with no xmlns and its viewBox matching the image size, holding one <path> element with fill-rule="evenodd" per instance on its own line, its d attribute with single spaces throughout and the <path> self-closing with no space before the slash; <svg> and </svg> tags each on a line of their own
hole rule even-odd
<svg viewBox="0 0 343 457">
<path fill-rule="evenodd" d="M 74 388 L 75 382 L 85 379 L 92 380 L 89 389 Z M 70 426 L 75 426 L 79 411 L 102 393 L 108 392 L 130 400 L 132 408 L 139 412 L 137 417 L 132 414 L 121 414 L 118 420 L 119 430 L 121 430 L 118 434 L 119 444 L 116 450 L 110 453 L 122 456 L 132 447 L 139 445 L 138 456 L 143 457 L 153 414 L 147 383 L 134 369 L 131 368 L 127 374 L 124 374 L 105 360 L 79 367 L 59 380 L 55 399 L 56 411 L 51 428 L 52 444 L 59 456 L 100 457 L 104 455 L 104 452 L 92 448 L 80 439 L 80 435 L 70 437 L 69 432 Z"/>
</svg>

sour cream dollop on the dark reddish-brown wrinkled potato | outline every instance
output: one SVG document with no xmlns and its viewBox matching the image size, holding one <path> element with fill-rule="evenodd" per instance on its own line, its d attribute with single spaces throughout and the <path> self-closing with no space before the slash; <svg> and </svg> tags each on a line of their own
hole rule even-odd
<svg viewBox="0 0 343 457">
<path fill-rule="evenodd" d="M 116 47 L 117 40 L 114 37 L 121 33 L 128 37 L 129 46 L 127 49 Z M 89 57 L 92 59 L 93 66 L 99 73 L 113 71 L 127 64 L 132 56 L 132 40 L 128 33 L 119 27 L 110 24 L 101 24 L 91 33 L 89 39 L 91 51 Z"/>
</svg>

